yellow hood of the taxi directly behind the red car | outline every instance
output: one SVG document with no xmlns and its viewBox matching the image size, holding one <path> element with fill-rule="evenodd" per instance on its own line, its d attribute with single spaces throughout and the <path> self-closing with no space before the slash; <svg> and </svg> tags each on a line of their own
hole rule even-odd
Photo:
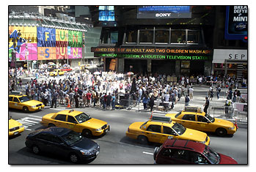
<svg viewBox="0 0 256 172">
<path fill-rule="evenodd" d="M 180 135 L 181 139 L 191 140 L 191 141 L 205 141 L 207 134 L 205 132 L 200 132 L 197 130 L 192 130 L 187 128 L 183 135 Z"/>
</svg>

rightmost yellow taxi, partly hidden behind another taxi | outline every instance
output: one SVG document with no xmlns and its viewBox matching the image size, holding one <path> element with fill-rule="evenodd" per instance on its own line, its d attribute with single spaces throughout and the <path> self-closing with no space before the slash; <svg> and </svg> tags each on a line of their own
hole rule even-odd
<svg viewBox="0 0 256 172">
<path fill-rule="evenodd" d="M 219 136 L 227 134 L 233 135 L 238 129 L 236 124 L 224 119 L 217 119 L 202 112 L 201 108 L 185 107 L 184 111 L 179 113 L 168 113 L 166 116 L 173 121 L 183 124 L 184 127 L 203 132 L 216 132 Z"/>
</svg>

